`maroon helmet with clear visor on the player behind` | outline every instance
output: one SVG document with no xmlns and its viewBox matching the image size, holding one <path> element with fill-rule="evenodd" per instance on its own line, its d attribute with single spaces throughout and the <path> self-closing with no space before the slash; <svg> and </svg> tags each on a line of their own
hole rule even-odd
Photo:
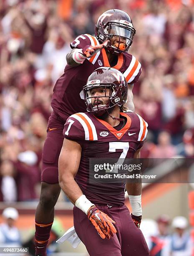
<svg viewBox="0 0 194 256">
<path fill-rule="evenodd" d="M 112 54 L 128 51 L 135 33 L 136 30 L 130 16 L 122 10 L 108 10 L 98 18 L 96 23 L 96 37 L 101 43 L 113 36 L 118 37 L 118 43 L 106 46 Z M 125 44 L 121 43 L 121 38 L 126 41 Z"/>
</svg>

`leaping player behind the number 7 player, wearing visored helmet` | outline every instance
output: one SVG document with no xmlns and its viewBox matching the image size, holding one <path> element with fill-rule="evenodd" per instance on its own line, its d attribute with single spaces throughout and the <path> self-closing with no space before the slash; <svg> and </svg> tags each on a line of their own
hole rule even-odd
<svg viewBox="0 0 194 256">
<path fill-rule="evenodd" d="M 114 67 L 128 82 L 134 109 L 132 87 L 141 74 L 141 64 L 128 54 L 135 34 L 131 18 L 121 10 L 108 10 L 96 24 L 96 36 L 84 34 L 72 43 L 67 54 L 64 74 L 53 88 L 53 113 L 48 121 L 47 138 L 43 147 L 40 202 L 35 213 L 36 255 L 46 255 L 46 245 L 54 219 L 54 206 L 60 194 L 58 185 L 58 157 L 63 145 L 63 128 L 67 118 L 77 112 L 86 112 L 83 85 L 98 67 Z"/>
</svg>

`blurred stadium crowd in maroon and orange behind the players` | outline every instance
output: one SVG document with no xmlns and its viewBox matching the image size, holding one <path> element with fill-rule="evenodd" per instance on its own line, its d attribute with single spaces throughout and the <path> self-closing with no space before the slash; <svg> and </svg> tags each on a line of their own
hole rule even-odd
<svg viewBox="0 0 194 256">
<path fill-rule="evenodd" d="M 149 123 L 142 157 L 194 157 L 194 0 L 0 0 L 0 201 L 35 200 L 55 81 L 70 42 L 101 13 L 132 18 L 142 64 L 136 112 Z"/>
</svg>

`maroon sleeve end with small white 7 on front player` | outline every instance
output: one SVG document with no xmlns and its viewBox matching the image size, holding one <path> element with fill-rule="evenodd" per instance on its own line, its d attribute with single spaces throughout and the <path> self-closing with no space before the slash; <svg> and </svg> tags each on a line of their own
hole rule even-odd
<svg viewBox="0 0 194 256">
<path fill-rule="evenodd" d="M 83 141 L 85 139 L 85 132 L 81 123 L 76 119 L 76 115 L 71 115 L 63 129 L 63 136 L 69 140 L 76 142 Z"/>
</svg>

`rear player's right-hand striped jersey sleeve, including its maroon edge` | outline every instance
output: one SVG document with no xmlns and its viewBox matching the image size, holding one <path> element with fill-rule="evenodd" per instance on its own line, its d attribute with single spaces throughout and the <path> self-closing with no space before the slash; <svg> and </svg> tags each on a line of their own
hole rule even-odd
<svg viewBox="0 0 194 256">
<path fill-rule="evenodd" d="M 141 75 L 141 63 L 133 55 L 127 56 L 126 71 L 123 73 L 128 84 L 134 84 Z"/>
</svg>

